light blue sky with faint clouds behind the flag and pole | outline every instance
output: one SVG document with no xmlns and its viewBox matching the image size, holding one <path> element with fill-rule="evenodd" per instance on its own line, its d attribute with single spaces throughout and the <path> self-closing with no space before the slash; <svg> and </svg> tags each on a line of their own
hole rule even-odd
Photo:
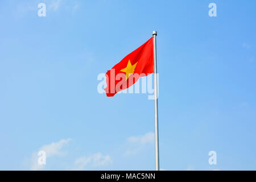
<svg viewBox="0 0 256 182">
<path fill-rule="evenodd" d="M 0 169 L 154 170 L 154 101 L 97 76 L 156 30 L 160 168 L 256 170 L 255 1 L 0 5 Z"/>
</svg>

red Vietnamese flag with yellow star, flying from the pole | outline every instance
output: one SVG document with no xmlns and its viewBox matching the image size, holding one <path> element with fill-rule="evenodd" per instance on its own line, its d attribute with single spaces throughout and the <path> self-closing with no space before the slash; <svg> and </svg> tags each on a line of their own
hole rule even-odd
<svg viewBox="0 0 256 182">
<path fill-rule="evenodd" d="M 139 77 L 154 72 L 153 37 L 141 47 L 125 56 L 112 69 L 106 72 L 106 96 L 113 97 L 117 92 L 129 88 Z"/>
</svg>

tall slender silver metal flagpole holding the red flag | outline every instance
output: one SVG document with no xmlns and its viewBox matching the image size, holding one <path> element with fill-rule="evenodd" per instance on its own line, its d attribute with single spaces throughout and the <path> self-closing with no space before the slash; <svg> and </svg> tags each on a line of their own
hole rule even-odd
<svg viewBox="0 0 256 182">
<path fill-rule="evenodd" d="M 155 90 L 155 170 L 159 171 L 159 140 L 158 140 L 158 76 L 156 68 L 156 35 L 153 31 L 154 42 L 154 90 Z"/>
</svg>

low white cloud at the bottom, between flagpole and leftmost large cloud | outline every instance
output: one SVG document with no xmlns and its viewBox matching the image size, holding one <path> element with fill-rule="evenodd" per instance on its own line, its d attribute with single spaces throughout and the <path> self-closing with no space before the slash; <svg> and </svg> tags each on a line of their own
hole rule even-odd
<svg viewBox="0 0 256 182">
<path fill-rule="evenodd" d="M 107 166 L 108 164 L 112 163 L 112 159 L 109 155 L 104 156 L 100 152 L 90 156 L 83 156 L 82 158 L 76 159 L 75 169 L 82 170 L 89 163 L 91 163 L 94 167 Z"/>
</svg>

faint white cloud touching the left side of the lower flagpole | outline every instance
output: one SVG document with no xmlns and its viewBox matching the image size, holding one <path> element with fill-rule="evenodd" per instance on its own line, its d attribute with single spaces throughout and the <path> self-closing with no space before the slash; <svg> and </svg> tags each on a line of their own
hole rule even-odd
<svg viewBox="0 0 256 182">
<path fill-rule="evenodd" d="M 127 142 L 130 144 L 130 149 L 124 155 L 134 155 L 141 151 L 146 144 L 153 144 L 155 142 L 155 134 L 150 132 L 144 135 L 129 137 Z"/>
</svg>

